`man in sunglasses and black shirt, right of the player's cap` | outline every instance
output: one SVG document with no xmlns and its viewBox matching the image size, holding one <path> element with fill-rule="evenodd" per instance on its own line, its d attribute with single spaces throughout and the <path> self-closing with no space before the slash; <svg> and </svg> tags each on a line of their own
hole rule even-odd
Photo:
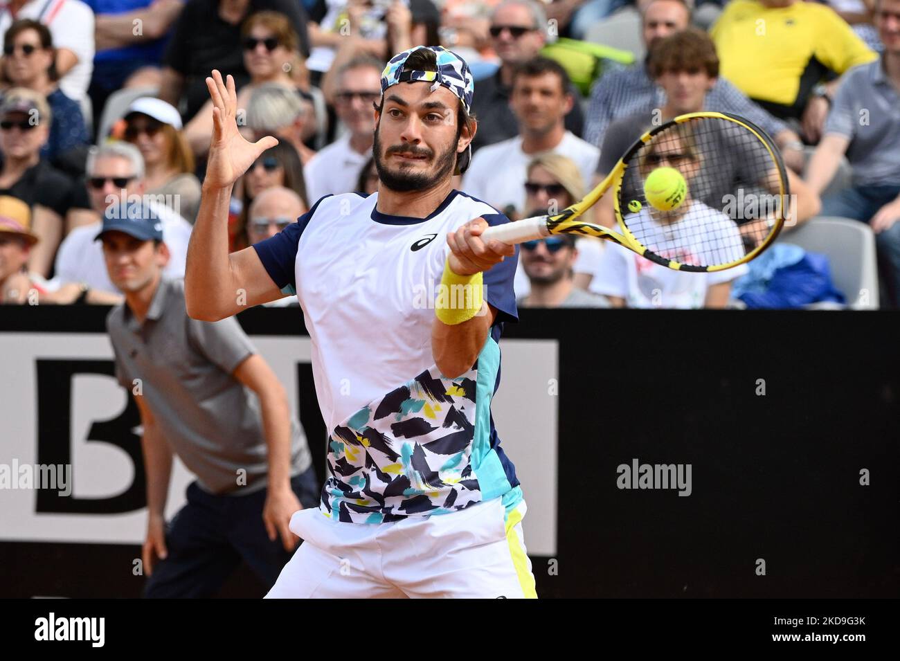
<svg viewBox="0 0 900 661">
<path fill-rule="evenodd" d="M 494 10 L 490 30 L 491 42 L 500 58 L 500 69 L 494 76 L 478 81 L 478 94 L 473 102 L 473 112 L 478 117 L 478 133 L 472 143 L 475 151 L 484 145 L 516 137 L 518 122 L 509 107 L 513 75 L 516 67 L 535 58 L 544 47 L 547 17 L 540 3 L 507 0 Z M 568 94 L 572 94 L 573 99 L 580 98 L 572 85 L 569 85 Z M 573 103 L 565 114 L 565 128 L 581 136 L 583 127 L 581 105 Z"/>
</svg>

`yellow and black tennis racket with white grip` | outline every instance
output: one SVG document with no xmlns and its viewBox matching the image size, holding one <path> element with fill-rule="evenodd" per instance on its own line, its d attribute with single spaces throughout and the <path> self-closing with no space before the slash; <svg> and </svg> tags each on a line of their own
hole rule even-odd
<svg viewBox="0 0 900 661">
<path fill-rule="evenodd" d="M 657 208 L 644 184 L 659 167 L 675 168 L 686 185 L 668 202 L 651 188 Z M 618 232 L 581 219 L 606 195 L 613 196 Z M 482 238 L 518 244 L 554 234 L 599 237 L 676 271 L 722 271 L 749 262 L 778 237 L 788 195 L 778 147 L 763 130 L 730 113 L 691 112 L 644 133 L 581 201 L 488 228 Z M 678 206 L 670 210 L 672 197 Z"/>
</svg>

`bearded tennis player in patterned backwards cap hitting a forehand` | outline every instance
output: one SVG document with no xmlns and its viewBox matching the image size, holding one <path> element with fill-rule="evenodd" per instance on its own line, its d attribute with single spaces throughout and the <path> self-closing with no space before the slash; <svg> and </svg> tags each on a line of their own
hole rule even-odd
<svg viewBox="0 0 900 661">
<path fill-rule="evenodd" d="M 320 507 L 270 597 L 535 597 L 515 469 L 491 397 L 517 320 L 509 220 L 455 191 L 477 128 L 473 78 L 439 47 L 392 58 L 374 108 L 378 192 L 331 195 L 283 232 L 228 254 L 232 184 L 275 138 L 247 142 L 229 76 L 207 78 L 214 135 L 188 249 L 191 317 L 296 293 L 329 429 Z"/>
</svg>

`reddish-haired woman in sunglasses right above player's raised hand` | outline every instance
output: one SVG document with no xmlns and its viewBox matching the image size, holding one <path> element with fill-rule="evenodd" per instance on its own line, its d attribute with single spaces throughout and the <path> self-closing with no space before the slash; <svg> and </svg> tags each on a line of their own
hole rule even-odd
<svg viewBox="0 0 900 661">
<path fill-rule="evenodd" d="M 305 86 L 306 71 L 300 57 L 299 43 L 297 32 L 282 13 L 258 12 L 247 18 L 241 29 L 241 49 L 250 82 L 238 90 L 238 108 L 246 109 L 253 91 L 266 83 L 292 88 Z M 247 122 L 242 126 L 247 126 Z M 195 156 L 206 156 L 212 138 L 210 100 L 187 122 L 184 136 Z M 249 133 L 246 137 L 250 138 Z"/>
</svg>

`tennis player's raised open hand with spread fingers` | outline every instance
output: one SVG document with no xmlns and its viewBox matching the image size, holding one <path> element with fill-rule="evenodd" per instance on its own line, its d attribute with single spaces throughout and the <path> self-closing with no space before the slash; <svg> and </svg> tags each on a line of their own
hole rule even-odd
<svg viewBox="0 0 900 661">
<path fill-rule="evenodd" d="M 260 154 L 278 144 L 272 136 L 250 142 L 240 134 L 234 78 L 229 75 L 226 81 L 222 81 L 218 69 L 213 69 L 212 76 L 206 78 L 212 99 L 212 141 L 203 185 L 216 188 L 226 188 L 238 181 Z"/>
</svg>

